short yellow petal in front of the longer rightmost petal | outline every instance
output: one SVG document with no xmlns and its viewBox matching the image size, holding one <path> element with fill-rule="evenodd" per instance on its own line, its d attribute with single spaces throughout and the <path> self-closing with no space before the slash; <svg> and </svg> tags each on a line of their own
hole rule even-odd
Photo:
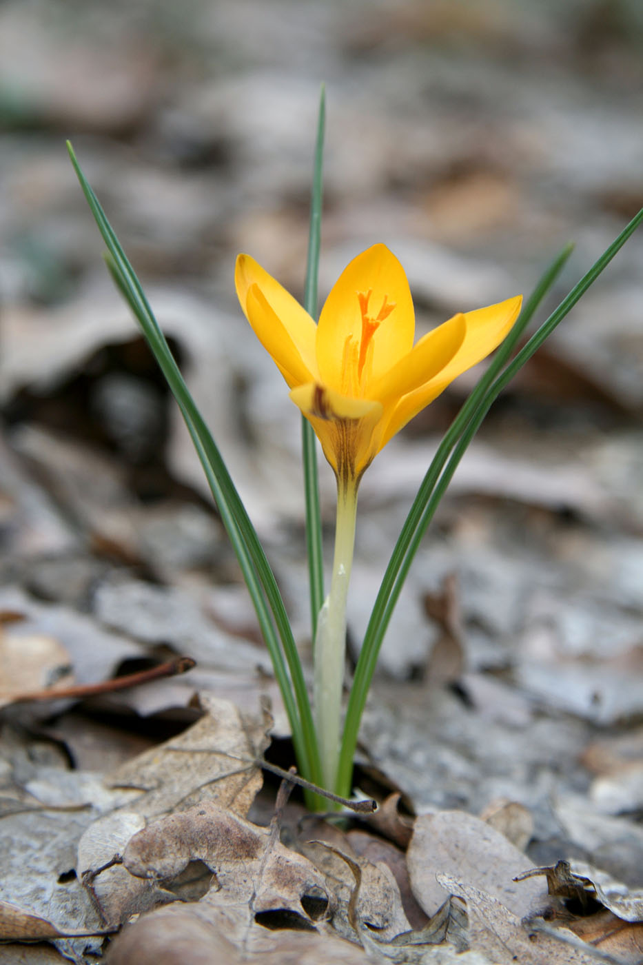
<svg viewBox="0 0 643 965">
<path fill-rule="evenodd" d="M 369 385 L 370 398 L 384 405 L 401 399 L 442 372 L 461 348 L 466 333 L 466 320 L 455 315 L 425 335 L 404 358 Z"/>
</svg>

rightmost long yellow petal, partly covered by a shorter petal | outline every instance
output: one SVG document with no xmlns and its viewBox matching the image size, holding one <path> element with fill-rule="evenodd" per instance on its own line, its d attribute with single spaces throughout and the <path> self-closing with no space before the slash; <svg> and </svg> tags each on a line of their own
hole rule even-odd
<svg viewBox="0 0 643 965">
<path fill-rule="evenodd" d="M 489 305 L 488 308 L 464 314 L 466 334 L 460 349 L 441 372 L 398 402 L 382 433 L 377 451 L 382 449 L 413 416 L 416 416 L 429 402 L 433 402 L 433 399 L 439 396 L 454 378 L 476 365 L 500 345 L 514 325 L 521 305 L 522 295 L 517 295 L 497 305 Z"/>
</svg>

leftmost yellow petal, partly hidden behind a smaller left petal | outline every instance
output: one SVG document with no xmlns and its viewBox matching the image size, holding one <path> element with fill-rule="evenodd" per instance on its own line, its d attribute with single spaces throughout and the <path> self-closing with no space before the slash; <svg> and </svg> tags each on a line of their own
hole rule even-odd
<svg viewBox="0 0 643 965">
<path fill-rule="evenodd" d="M 253 328 L 255 326 L 248 315 L 248 292 L 253 285 L 259 287 L 266 298 L 266 302 L 272 309 L 274 316 L 280 319 L 282 327 L 286 330 L 289 338 L 296 346 L 306 369 L 312 373 L 313 378 L 316 378 L 317 361 L 315 356 L 315 340 L 317 337 L 317 325 L 308 315 L 308 312 L 299 305 L 289 291 L 283 288 L 279 282 L 275 281 L 275 279 L 267 273 L 266 269 L 262 268 L 259 262 L 255 262 L 254 258 L 251 258 L 250 255 L 238 256 L 235 268 L 235 285 L 243 313 Z M 255 331 L 257 331 L 257 329 L 255 329 Z M 263 344 L 266 345 L 264 342 Z M 275 358 L 267 345 L 266 348 L 272 357 Z"/>
</svg>

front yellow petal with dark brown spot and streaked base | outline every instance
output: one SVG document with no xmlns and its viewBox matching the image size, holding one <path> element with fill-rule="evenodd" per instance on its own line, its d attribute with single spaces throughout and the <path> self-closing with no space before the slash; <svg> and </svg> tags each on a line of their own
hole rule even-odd
<svg viewBox="0 0 643 965">
<path fill-rule="evenodd" d="M 348 399 L 319 382 L 293 389 L 291 399 L 315 429 L 323 455 L 338 478 L 358 480 L 377 453 L 375 430 L 381 403 Z"/>
</svg>

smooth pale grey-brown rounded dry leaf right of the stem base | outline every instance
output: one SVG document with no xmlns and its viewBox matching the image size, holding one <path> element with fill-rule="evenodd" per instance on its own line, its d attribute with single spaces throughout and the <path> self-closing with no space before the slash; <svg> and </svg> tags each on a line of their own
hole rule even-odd
<svg viewBox="0 0 643 965">
<path fill-rule="evenodd" d="M 502 901 L 518 919 L 536 914 L 546 900 L 545 888 L 514 878 L 529 859 L 503 834 L 473 814 L 444 811 L 415 819 L 406 855 L 413 893 L 427 915 L 444 901 L 437 874 L 479 888 Z"/>
</svg>

